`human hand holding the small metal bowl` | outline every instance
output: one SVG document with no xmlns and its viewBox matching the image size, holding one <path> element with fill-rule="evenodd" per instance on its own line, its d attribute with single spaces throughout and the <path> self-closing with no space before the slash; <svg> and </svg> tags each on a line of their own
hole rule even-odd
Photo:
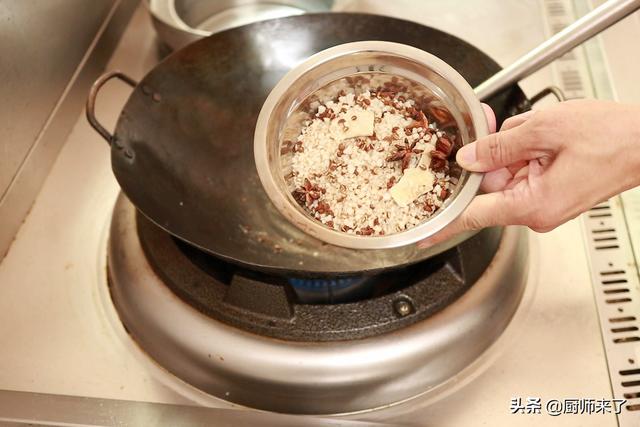
<svg viewBox="0 0 640 427">
<path fill-rule="evenodd" d="M 640 184 L 640 106 L 575 100 L 529 111 L 465 145 L 456 160 L 486 172 L 486 194 L 418 246 L 496 225 L 547 232 Z"/>
</svg>

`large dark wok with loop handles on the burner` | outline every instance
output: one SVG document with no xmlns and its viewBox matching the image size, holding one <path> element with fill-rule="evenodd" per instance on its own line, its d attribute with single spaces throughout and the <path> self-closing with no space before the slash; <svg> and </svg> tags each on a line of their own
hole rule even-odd
<svg viewBox="0 0 640 427">
<path fill-rule="evenodd" d="M 219 258 L 270 273 L 372 273 L 438 254 L 414 245 L 357 251 L 327 245 L 289 223 L 262 189 L 253 160 L 260 108 L 276 82 L 310 55 L 338 44 L 387 40 L 430 52 L 472 86 L 500 70 L 474 46 L 416 23 L 365 14 L 301 15 L 214 34 L 179 50 L 135 86 L 110 135 L 113 172 L 131 202 L 167 232 Z M 91 98 L 89 100 L 91 102 Z M 488 99 L 498 124 L 530 108 L 517 85 Z M 490 232 L 490 231 L 489 231 Z M 499 230 L 495 230 L 499 232 Z"/>
</svg>

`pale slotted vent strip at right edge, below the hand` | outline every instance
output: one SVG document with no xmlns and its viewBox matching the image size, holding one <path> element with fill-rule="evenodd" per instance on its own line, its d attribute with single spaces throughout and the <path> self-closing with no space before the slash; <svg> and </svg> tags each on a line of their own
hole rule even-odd
<svg viewBox="0 0 640 427">
<path fill-rule="evenodd" d="M 611 388 L 626 399 L 621 427 L 640 425 L 640 283 L 619 197 L 583 215 Z"/>
</svg>

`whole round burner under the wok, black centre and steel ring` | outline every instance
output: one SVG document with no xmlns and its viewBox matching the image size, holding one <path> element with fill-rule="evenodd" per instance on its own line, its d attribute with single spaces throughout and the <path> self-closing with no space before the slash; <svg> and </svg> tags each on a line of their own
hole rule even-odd
<svg viewBox="0 0 640 427">
<path fill-rule="evenodd" d="M 174 240 L 121 196 L 109 285 L 131 337 L 200 390 L 269 411 L 346 413 L 439 390 L 476 360 L 519 306 L 526 236 L 486 230 L 372 276 L 276 276 Z"/>
</svg>

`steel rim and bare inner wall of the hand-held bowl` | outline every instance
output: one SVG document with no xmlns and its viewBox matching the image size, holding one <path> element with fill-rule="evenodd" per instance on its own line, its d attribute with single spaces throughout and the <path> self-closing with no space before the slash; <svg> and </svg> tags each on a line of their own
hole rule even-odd
<svg viewBox="0 0 640 427">
<path fill-rule="evenodd" d="M 288 167 L 281 155 L 283 135 L 298 135 L 295 111 L 312 94 L 338 92 L 339 81 L 354 75 L 379 79 L 397 76 L 418 83 L 420 95 L 434 98 L 434 105 L 450 111 L 462 144 L 489 133 L 482 105 L 465 79 L 444 61 L 423 50 L 398 43 L 363 41 L 319 52 L 289 71 L 269 93 L 258 116 L 254 156 L 258 176 L 269 199 L 280 213 L 311 236 L 353 249 L 385 249 L 409 245 L 427 238 L 451 223 L 468 206 L 480 188 L 482 175 L 463 171 L 452 196 L 432 217 L 409 230 L 385 236 L 358 236 L 332 230 L 309 216 L 291 195 L 284 176 Z M 298 115 L 299 116 L 299 115 Z"/>
</svg>

